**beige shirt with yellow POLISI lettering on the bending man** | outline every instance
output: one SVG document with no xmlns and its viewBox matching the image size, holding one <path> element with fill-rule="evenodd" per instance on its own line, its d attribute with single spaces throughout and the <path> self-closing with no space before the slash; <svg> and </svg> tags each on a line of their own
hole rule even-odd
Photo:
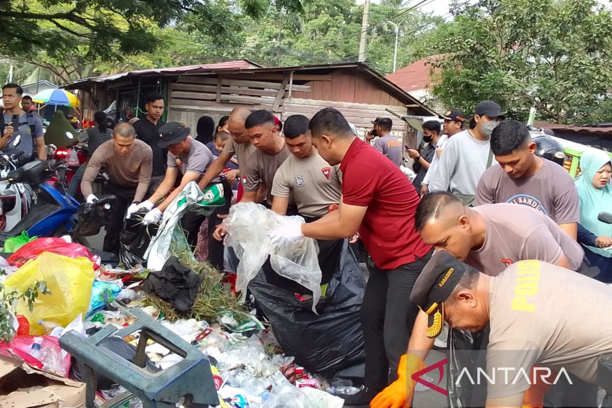
<svg viewBox="0 0 612 408">
<path fill-rule="evenodd" d="M 487 384 L 489 398 L 527 390 L 520 369 L 529 375 L 534 365 L 553 371 L 551 383 L 562 368 L 594 383 L 597 358 L 612 354 L 607 284 L 545 262 L 521 261 L 490 278 L 488 303 L 487 372 L 496 373 L 496 384 Z M 493 368 L 513 369 L 507 384 L 504 372 Z"/>
</svg>

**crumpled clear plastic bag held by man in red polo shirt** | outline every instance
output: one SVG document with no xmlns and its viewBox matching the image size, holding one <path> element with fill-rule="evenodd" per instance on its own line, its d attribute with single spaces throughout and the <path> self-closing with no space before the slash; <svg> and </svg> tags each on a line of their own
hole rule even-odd
<svg viewBox="0 0 612 408">
<path fill-rule="evenodd" d="M 304 222 L 299 216 L 283 217 L 255 202 L 239 202 L 231 207 L 230 216 L 223 221 L 228 237 L 226 245 L 234 248 L 240 259 L 236 289 L 246 291 L 270 256 L 272 268 L 278 275 L 296 281 L 313 293 L 312 311 L 321 297 L 321 268 L 316 240 L 302 237 L 291 245 L 276 248 L 270 243 L 269 232 L 282 226 L 287 218 Z"/>
</svg>

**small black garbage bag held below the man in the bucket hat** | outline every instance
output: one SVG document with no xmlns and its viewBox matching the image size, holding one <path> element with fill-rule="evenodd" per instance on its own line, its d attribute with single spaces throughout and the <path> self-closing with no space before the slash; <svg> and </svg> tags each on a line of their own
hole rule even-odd
<svg viewBox="0 0 612 408">
<path fill-rule="evenodd" d="M 119 262 L 127 269 L 132 269 L 138 264 L 146 267 L 147 260 L 144 253 L 149 248 L 151 238 L 157 234 L 158 226 L 155 224 L 145 225 L 143 217 L 146 210 L 137 212 L 132 217 L 126 218 L 119 236 Z"/>
</svg>

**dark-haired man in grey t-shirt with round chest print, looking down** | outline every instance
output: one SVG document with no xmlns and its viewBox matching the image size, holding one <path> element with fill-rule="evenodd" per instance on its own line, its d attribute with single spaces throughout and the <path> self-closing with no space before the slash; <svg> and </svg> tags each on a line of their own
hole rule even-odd
<svg viewBox="0 0 612 408">
<path fill-rule="evenodd" d="M 499 166 L 488 168 L 476 188 L 476 205 L 512 202 L 538 210 L 576 239 L 578 191 L 564 168 L 535 155 L 537 146 L 521 122 L 502 122 L 491 134 Z"/>
</svg>

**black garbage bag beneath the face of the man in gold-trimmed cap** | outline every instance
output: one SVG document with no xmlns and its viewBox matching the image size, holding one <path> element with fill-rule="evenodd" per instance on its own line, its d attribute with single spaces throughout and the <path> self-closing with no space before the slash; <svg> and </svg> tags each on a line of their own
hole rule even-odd
<svg viewBox="0 0 612 408">
<path fill-rule="evenodd" d="M 457 379 L 464 368 L 468 369 L 472 379 L 477 378 L 478 368 L 487 368 L 489 330 L 489 327 L 478 333 L 457 328 L 449 330 L 449 374 L 446 377 L 449 408 L 476 408 L 486 405 L 487 387 L 485 385 L 473 385 L 465 375 L 460 381 Z"/>
</svg>

